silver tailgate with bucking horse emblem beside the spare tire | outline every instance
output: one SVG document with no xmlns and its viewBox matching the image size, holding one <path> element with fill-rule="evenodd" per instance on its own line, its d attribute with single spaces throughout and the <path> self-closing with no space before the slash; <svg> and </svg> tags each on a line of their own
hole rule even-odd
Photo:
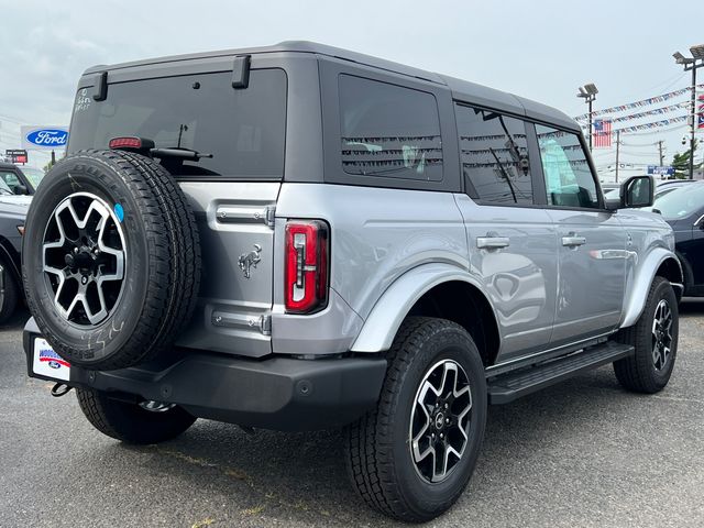
<svg viewBox="0 0 704 528">
<path fill-rule="evenodd" d="M 274 207 L 280 184 L 183 182 L 200 231 L 197 312 L 177 344 L 241 355 L 272 352 Z"/>
</svg>

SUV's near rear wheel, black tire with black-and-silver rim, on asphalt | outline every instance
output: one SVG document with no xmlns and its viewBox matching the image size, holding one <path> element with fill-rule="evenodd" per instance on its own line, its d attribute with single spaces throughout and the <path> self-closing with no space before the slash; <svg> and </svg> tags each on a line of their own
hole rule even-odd
<svg viewBox="0 0 704 528">
<path fill-rule="evenodd" d="M 408 318 L 387 359 L 376 409 L 346 429 L 348 472 L 370 506 L 430 520 L 474 471 L 486 424 L 484 366 L 462 327 L 430 318 Z"/>
</svg>

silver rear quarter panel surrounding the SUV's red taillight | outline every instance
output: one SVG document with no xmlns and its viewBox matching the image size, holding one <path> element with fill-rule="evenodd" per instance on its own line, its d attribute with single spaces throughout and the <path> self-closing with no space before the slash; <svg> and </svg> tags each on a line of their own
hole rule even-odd
<svg viewBox="0 0 704 528">
<path fill-rule="evenodd" d="M 464 224 L 448 193 L 285 183 L 276 205 L 275 254 L 284 252 L 286 220 L 310 218 L 330 226 L 331 302 L 314 316 L 286 314 L 284 258 L 276 258 L 274 272 L 278 278 L 274 280 L 272 317 L 275 351 L 292 353 L 289 346 L 295 343 L 300 343 L 295 345 L 295 353 L 302 353 L 299 349 L 306 345 L 308 354 L 358 351 L 352 342 L 362 322 L 373 319 L 370 314 L 382 294 L 399 277 L 428 263 L 465 273 L 469 270 Z M 414 293 L 407 295 L 410 298 Z M 344 302 L 337 302 L 338 296 Z M 403 309 L 407 302 L 395 308 Z M 353 321 L 345 323 L 345 317 Z M 378 322 L 393 328 L 395 317 L 397 314 L 388 314 Z M 334 342 L 324 338 L 336 332 L 339 339 Z M 364 351 L 383 350 L 380 346 Z"/>
</svg>

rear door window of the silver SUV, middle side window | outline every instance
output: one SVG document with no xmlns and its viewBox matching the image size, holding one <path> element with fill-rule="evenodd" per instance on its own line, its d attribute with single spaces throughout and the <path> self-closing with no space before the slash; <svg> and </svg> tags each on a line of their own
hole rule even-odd
<svg viewBox="0 0 704 528">
<path fill-rule="evenodd" d="M 465 180 L 480 200 L 532 204 L 525 123 L 491 110 L 455 106 Z"/>
</svg>

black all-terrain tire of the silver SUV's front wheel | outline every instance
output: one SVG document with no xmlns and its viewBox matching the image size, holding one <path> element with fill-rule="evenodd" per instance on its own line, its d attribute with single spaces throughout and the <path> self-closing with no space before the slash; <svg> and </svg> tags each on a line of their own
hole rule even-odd
<svg viewBox="0 0 704 528">
<path fill-rule="evenodd" d="M 659 309 L 670 310 L 671 326 L 668 331 L 670 337 L 667 360 L 662 361 L 653 346 L 657 345 L 654 333 L 656 318 Z M 662 391 L 672 375 L 674 360 L 678 352 L 679 312 L 678 299 L 670 282 L 656 276 L 650 286 L 646 306 L 640 318 L 632 327 L 620 330 L 617 340 L 631 344 L 636 352 L 632 356 L 614 362 L 616 378 L 623 387 L 637 392 L 653 394 Z"/>
</svg>

